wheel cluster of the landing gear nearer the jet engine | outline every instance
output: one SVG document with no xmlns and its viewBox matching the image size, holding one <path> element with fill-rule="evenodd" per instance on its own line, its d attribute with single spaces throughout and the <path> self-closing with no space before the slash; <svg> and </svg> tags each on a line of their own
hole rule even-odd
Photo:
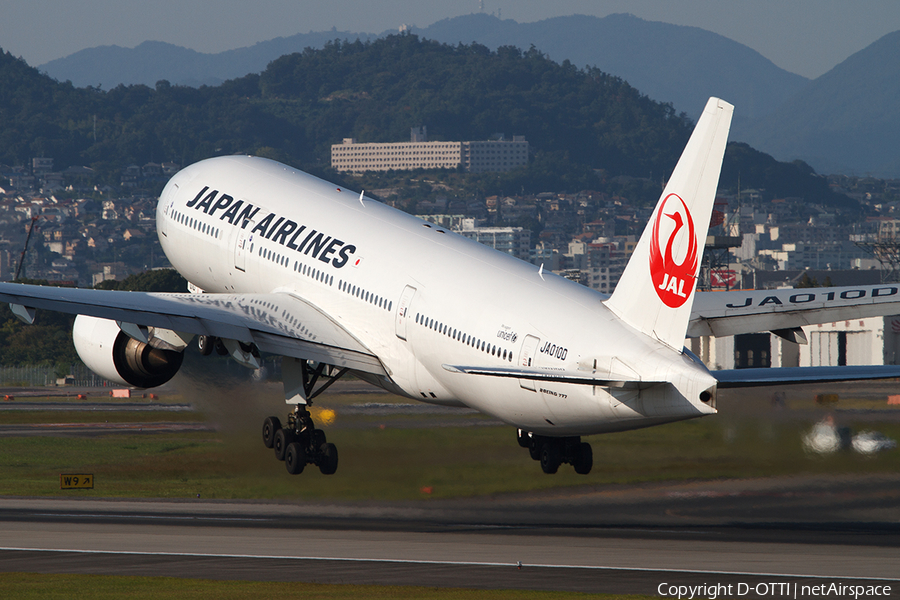
<svg viewBox="0 0 900 600">
<path fill-rule="evenodd" d="M 299 475 L 308 464 L 319 467 L 323 475 L 337 471 L 337 447 L 325 439 L 325 432 L 316 429 L 309 410 L 303 404 L 288 415 L 287 427 L 278 417 L 263 421 L 263 443 L 275 450 L 275 458 L 284 461 L 291 475 Z"/>
</svg>

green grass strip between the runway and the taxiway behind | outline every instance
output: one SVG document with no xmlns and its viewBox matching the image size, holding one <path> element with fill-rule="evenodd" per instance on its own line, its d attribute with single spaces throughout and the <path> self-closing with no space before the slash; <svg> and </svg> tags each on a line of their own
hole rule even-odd
<svg viewBox="0 0 900 600">
<path fill-rule="evenodd" d="M 182 394 L 161 401 L 191 399 Z M 567 465 L 556 475 L 544 475 L 518 447 L 511 427 L 486 424 L 478 415 L 345 414 L 347 407 L 361 402 L 397 401 L 380 394 L 323 396 L 320 406 L 336 415 L 325 430 L 339 448 L 340 467 L 336 475 L 323 476 L 310 465 L 299 477 L 290 476 L 262 445 L 259 425 L 275 412 L 271 405 L 223 407 L 200 401 L 194 412 L 0 412 L 3 423 L 205 421 L 217 428 L 0 438 L 0 489 L 28 496 L 410 500 L 613 483 L 900 470 L 897 449 L 874 456 L 806 453 L 803 433 L 833 408 L 817 407 L 811 400 L 790 399 L 781 410 L 765 402 L 755 408 L 743 402 L 714 417 L 592 436 L 587 439 L 595 463 L 587 476 L 576 475 Z M 853 430 L 875 428 L 900 439 L 897 418 L 872 423 L 870 416 L 863 417 L 851 411 L 842 419 Z M 95 488 L 60 490 L 63 472 L 93 473 Z"/>
</svg>

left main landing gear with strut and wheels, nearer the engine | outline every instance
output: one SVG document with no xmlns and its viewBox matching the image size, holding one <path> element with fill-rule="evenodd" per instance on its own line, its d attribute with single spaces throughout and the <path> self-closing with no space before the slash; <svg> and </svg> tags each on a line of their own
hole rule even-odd
<svg viewBox="0 0 900 600">
<path fill-rule="evenodd" d="M 306 403 L 296 405 L 293 412 L 288 414 L 284 427 L 278 417 L 268 417 L 263 421 L 263 444 L 275 451 L 275 458 L 284 461 L 284 466 L 291 475 L 299 475 L 308 464 L 319 467 L 323 475 L 333 475 L 337 471 L 337 447 L 328 442 L 324 431 L 316 428 L 309 413 L 312 399 L 348 370 L 341 369 L 337 373 L 326 375 L 327 368 L 323 364 L 312 367 L 306 362 L 301 363 L 298 374 L 302 379 L 302 397 Z M 326 377 L 327 380 L 313 391 L 320 377 Z"/>
</svg>

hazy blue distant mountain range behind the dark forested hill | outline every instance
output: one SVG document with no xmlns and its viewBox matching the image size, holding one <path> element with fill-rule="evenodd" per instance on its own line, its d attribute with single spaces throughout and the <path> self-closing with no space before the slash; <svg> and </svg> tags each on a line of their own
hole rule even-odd
<svg viewBox="0 0 900 600">
<path fill-rule="evenodd" d="M 642 93 L 697 117 L 706 98 L 736 106 L 731 139 L 779 160 L 802 159 L 820 173 L 900 177 L 900 32 L 888 34 L 815 80 L 779 68 L 749 47 L 697 28 L 645 21 L 633 15 L 575 15 L 517 23 L 486 14 L 410 28 L 422 38 L 490 49 L 534 46 L 576 67 L 595 66 Z M 75 86 L 119 84 L 218 85 L 261 72 L 276 58 L 333 40 L 363 41 L 380 34 L 337 31 L 280 37 L 218 54 L 162 42 L 133 49 L 102 46 L 76 52 L 40 69 Z"/>
</svg>

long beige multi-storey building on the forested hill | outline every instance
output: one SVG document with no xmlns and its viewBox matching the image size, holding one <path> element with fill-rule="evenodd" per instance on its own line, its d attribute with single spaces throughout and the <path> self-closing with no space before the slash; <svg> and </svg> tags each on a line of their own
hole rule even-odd
<svg viewBox="0 0 900 600">
<path fill-rule="evenodd" d="M 429 142 L 425 127 L 414 127 L 409 142 L 361 144 L 344 138 L 331 146 L 331 167 L 336 171 L 405 171 L 410 169 L 462 169 L 467 173 L 509 171 L 528 164 L 524 136 L 512 140 Z"/>
</svg>

